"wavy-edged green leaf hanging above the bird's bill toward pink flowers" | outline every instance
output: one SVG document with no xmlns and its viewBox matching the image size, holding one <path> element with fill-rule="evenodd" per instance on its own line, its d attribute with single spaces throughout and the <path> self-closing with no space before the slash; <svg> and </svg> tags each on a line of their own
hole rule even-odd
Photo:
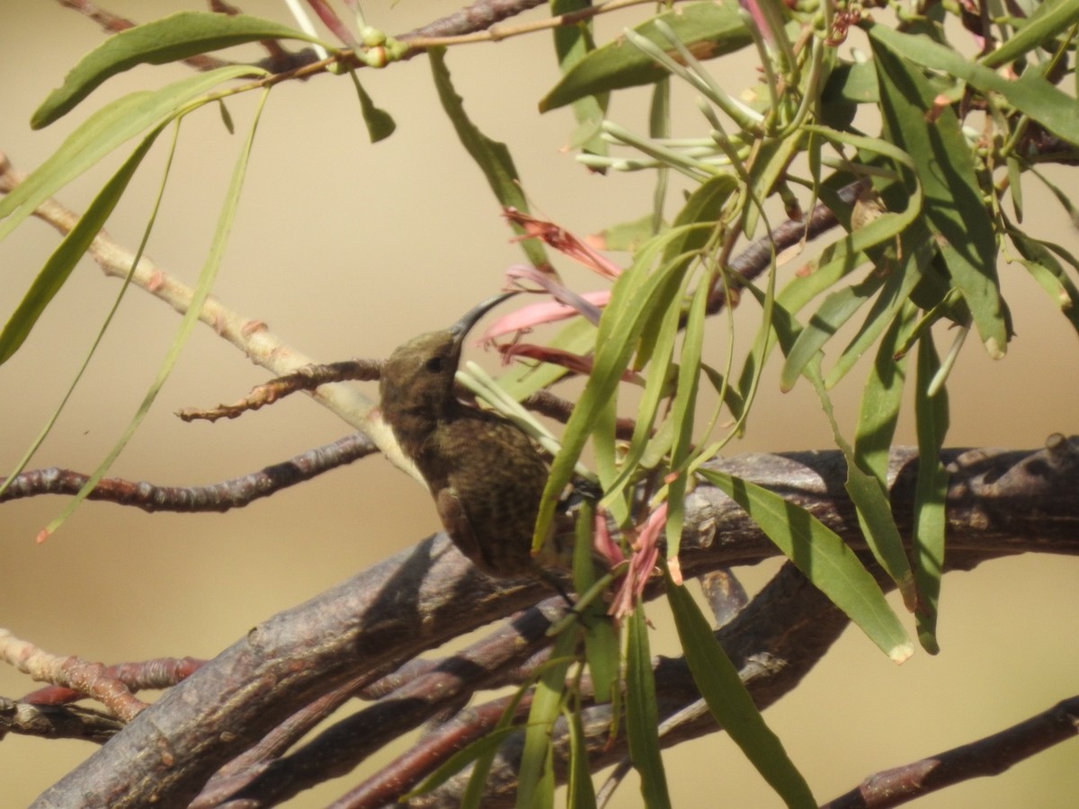
<svg viewBox="0 0 1079 809">
<path fill-rule="evenodd" d="M 529 203 L 518 182 L 517 167 L 509 155 L 509 149 L 505 143 L 491 140 L 468 119 L 463 99 L 453 90 L 450 71 L 446 67 L 446 49 L 432 47 L 427 51 L 427 55 L 431 57 L 431 71 L 435 77 L 438 98 L 453 123 L 462 146 L 483 172 L 488 184 L 502 206 L 528 211 Z M 514 231 L 522 235 L 524 233 L 523 228 L 518 224 L 514 225 Z M 535 266 L 549 266 L 547 251 L 542 243 L 534 238 L 525 238 L 520 245 L 529 261 Z"/>
</svg>

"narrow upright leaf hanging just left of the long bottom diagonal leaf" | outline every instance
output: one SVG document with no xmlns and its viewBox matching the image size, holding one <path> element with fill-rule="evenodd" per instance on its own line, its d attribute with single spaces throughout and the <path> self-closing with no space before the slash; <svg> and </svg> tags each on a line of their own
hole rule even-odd
<svg viewBox="0 0 1079 809">
<path fill-rule="evenodd" d="M 629 757 L 641 776 L 641 795 L 648 809 L 670 809 L 664 759 L 659 755 L 659 716 L 656 681 L 648 650 L 644 606 L 638 604 L 626 621 L 626 733 Z"/>
</svg>

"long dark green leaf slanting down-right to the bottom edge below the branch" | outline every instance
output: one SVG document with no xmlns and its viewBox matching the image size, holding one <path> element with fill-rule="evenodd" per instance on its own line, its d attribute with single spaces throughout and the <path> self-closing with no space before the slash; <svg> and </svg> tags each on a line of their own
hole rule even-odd
<svg viewBox="0 0 1079 809">
<path fill-rule="evenodd" d="M 738 670 L 712 634 L 708 620 L 688 590 L 675 585 L 670 574 L 667 575 L 667 599 L 685 661 L 712 716 L 787 806 L 816 807 L 809 784 L 787 755 L 779 737 L 765 724 Z"/>
</svg>

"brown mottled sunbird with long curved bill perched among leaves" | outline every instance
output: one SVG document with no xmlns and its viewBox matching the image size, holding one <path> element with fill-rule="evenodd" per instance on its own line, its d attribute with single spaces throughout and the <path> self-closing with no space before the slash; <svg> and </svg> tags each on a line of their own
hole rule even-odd
<svg viewBox="0 0 1079 809">
<path fill-rule="evenodd" d="M 552 536 L 544 556 L 532 554 L 547 457 L 517 425 L 466 404 L 454 390 L 465 335 L 513 294 L 489 298 L 448 329 L 394 349 L 382 368 L 380 408 L 461 552 L 490 576 L 540 578 L 569 601 L 550 572 L 568 566 L 566 549 Z"/>
</svg>

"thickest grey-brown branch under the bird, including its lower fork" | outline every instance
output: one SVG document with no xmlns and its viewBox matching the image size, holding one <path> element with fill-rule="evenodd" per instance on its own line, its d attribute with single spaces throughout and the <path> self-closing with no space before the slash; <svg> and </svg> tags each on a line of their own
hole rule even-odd
<svg viewBox="0 0 1079 809">
<path fill-rule="evenodd" d="M 948 566 L 970 567 L 1028 550 L 1079 553 L 1076 445 L 1054 437 L 1035 452 L 946 453 L 952 475 Z M 905 450 L 894 452 L 891 461 L 892 499 L 905 530 L 917 457 Z M 864 550 L 843 492 L 846 468 L 838 452 L 742 456 L 716 466 L 808 506 L 852 547 Z M 683 548 L 687 576 L 776 554 L 740 508 L 704 485 L 687 498 Z M 783 573 L 766 591 L 721 632 L 762 705 L 794 687 L 846 626 L 845 616 L 801 576 Z M 256 627 L 167 691 L 37 806 L 69 806 L 72 800 L 90 807 L 137 806 L 150 799 L 165 807 L 187 806 L 215 771 L 303 705 L 346 682 L 374 682 L 426 648 L 534 603 L 543 592 L 533 581 L 487 579 L 443 536 L 433 537 Z M 661 716 L 698 697 L 682 662 L 661 660 L 657 682 Z M 599 733 L 598 728 L 609 727 L 609 710 L 588 709 L 586 728 Z M 664 742 L 714 729 L 711 718 L 704 717 L 678 726 Z M 500 779 L 508 784 L 513 778 L 511 752 L 504 758 L 505 769 L 492 771 L 492 799 L 504 789 Z M 607 758 L 616 760 L 617 754 L 598 751 L 592 762 L 602 766 Z"/>
</svg>

